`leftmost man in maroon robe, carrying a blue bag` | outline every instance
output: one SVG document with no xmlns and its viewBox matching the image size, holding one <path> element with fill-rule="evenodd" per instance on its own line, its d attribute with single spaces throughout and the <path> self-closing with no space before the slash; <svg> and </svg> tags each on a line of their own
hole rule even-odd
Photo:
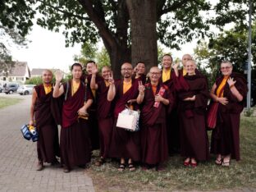
<svg viewBox="0 0 256 192">
<path fill-rule="evenodd" d="M 59 156 L 57 123 L 53 117 L 53 72 L 43 70 L 43 84 L 34 86 L 30 107 L 30 126 L 36 126 L 39 132 L 37 142 L 37 170 L 43 170 L 43 162 L 57 164 Z"/>
</svg>

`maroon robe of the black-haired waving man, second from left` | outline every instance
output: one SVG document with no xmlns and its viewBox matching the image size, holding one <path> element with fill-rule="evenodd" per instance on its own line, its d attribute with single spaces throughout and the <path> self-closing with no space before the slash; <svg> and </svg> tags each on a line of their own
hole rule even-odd
<svg viewBox="0 0 256 192">
<path fill-rule="evenodd" d="M 66 101 L 62 107 L 61 158 L 62 164 L 71 169 L 73 166 L 85 166 L 90 161 L 91 144 L 89 139 L 89 121 L 78 118 L 78 110 L 84 106 L 85 85 L 71 96 L 69 82 Z M 66 94 L 66 84 L 64 85 Z M 86 100 L 92 98 L 90 89 L 86 89 Z"/>
</svg>

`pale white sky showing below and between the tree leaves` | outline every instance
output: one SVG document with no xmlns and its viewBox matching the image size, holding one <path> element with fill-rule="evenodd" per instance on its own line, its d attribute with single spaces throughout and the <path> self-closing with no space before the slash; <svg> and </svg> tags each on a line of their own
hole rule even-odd
<svg viewBox="0 0 256 192">
<path fill-rule="evenodd" d="M 69 66 L 74 63 L 75 54 L 80 54 L 81 44 L 76 43 L 74 47 L 65 47 L 65 37 L 60 33 L 45 30 L 39 25 L 34 25 L 27 36 L 31 42 L 28 48 L 17 48 L 12 45 L 10 49 L 14 61 L 27 62 L 30 70 L 33 68 L 54 68 L 69 71 Z M 98 43 L 99 46 L 102 43 Z M 103 46 L 103 44 L 102 44 Z M 182 45 L 182 51 L 165 48 L 166 53 L 172 53 L 174 58 L 182 57 L 184 53 L 193 54 L 196 40 L 192 43 Z"/>
</svg>

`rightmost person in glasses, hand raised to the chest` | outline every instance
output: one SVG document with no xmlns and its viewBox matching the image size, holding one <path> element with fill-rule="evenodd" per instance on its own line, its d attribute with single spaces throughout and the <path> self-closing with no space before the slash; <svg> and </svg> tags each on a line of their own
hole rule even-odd
<svg viewBox="0 0 256 192">
<path fill-rule="evenodd" d="M 240 160 L 240 112 L 243 111 L 248 92 L 243 75 L 233 72 L 231 62 L 221 64 L 222 76 L 211 89 L 211 98 L 220 103 L 217 109 L 217 125 L 213 130 L 211 153 L 217 155 L 217 165 L 229 166 L 231 158 Z"/>
</svg>

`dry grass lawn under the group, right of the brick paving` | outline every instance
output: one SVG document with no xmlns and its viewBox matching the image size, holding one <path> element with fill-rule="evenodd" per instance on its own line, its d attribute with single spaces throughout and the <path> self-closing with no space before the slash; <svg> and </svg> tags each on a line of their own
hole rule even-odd
<svg viewBox="0 0 256 192">
<path fill-rule="evenodd" d="M 224 190 L 256 189 L 256 117 L 242 117 L 240 124 L 241 161 L 231 161 L 230 167 L 209 162 L 200 162 L 196 168 L 184 167 L 183 159 L 176 155 L 169 158 L 167 169 L 162 172 L 117 171 L 117 162 L 107 162 L 102 167 L 91 167 L 86 173 L 92 177 L 96 191 L 128 190 Z M 210 135 L 210 132 L 209 132 Z M 93 158 L 92 164 L 96 158 Z"/>
</svg>

